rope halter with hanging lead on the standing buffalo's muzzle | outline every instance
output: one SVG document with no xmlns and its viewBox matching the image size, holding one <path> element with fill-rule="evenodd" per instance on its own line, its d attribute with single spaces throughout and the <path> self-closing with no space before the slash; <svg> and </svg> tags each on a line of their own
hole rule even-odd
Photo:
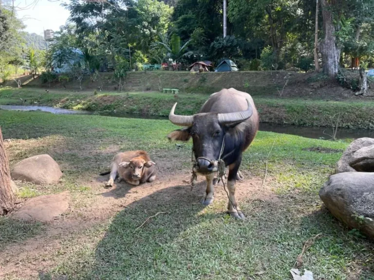
<svg viewBox="0 0 374 280">
<path fill-rule="evenodd" d="M 217 166 L 217 175 L 218 175 L 218 182 L 220 180 L 222 180 L 222 183 L 224 185 L 224 191 L 226 192 L 227 194 L 227 198 L 228 200 L 230 201 L 232 207 L 236 210 L 237 208 L 235 207 L 235 205 L 232 203 L 231 199 L 230 199 L 230 195 L 228 194 L 227 190 L 226 190 L 226 186 L 224 184 L 224 176 L 226 175 L 226 166 L 224 164 L 224 158 L 229 156 L 232 152 L 234 151 L 231 151 L 230 153 L 228 153 L 227 155 L 225 155 L 224 157 L 222 157 L 223 153 L 224 153 L 224 139 L 222 140 L 222 144 L 221 144 L 221 151 L 220 151 L 220 157 L 218 158 L 218 160 L 211 160 L 209 158 L 206 158 L 206 157 L 198 157 L 196 158 L 196 160 L 193 159 L 193 147 L 192 147 L 192 155 L 191 155 L 191 161 L 193 162 L 193 165 L 192 165 L 192 176 L 191 176 L 191 190 L 193 187 L 196 186 L 196 179 L 197 179 L 197 160 L 199 160 L 200 158 L 201 159 L 205 159 L 207 161 L 210 162 L 210 164 L 212 164 L 213 166 Z"/>
</svg>

